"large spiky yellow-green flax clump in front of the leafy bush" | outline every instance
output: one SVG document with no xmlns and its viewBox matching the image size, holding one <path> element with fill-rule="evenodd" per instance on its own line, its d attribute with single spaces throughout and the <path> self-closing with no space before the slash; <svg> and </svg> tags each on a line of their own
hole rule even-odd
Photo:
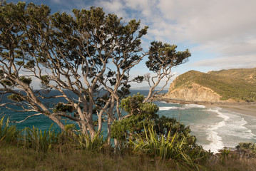
<svg viewBox="0 0 256 171">
<path fill-rule="evenodd" d="M 158 134 L 153 127 L 145 128 L 145 137 L 136 136 L 136 141 L 132 142 L 134 151 L 144 152 L 151 157 L 157 157 L 161 160 L 174 160 L 180 165 L 198 167 L 197 163 L 204 158 L 209 158 L 211 153 L 206 152 L 200 146 L 188 144 L 187 138 L 183 135 L 181 139 L 177 138 L 178 133 L 171 136 L 170 131 L 167 137 Z"/>
</svg>

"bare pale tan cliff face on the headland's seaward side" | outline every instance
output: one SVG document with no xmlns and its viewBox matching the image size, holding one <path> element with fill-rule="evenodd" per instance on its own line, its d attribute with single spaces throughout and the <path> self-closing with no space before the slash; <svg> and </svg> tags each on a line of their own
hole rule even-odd
<svg viewBox="0 0 256 171">
<path fill-rule="evenodd" d="M 220 102 L 221 98 L 220 95 L 210 88 L 200 86 L 196 83 L 191 83 L 189 86 L 175 88 L 175 82 L 171 84 L 168 93 L 166 93 L 164 97 L 173 100 L 205 102 Z"/>
</svg>

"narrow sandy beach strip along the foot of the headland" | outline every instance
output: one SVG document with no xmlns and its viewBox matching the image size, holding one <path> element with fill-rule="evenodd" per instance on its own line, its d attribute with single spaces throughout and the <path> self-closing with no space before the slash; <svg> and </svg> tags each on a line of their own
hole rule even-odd
<svg viewBox="0 0 256 171">
<path fill-rule="evenodd" d="M 218 107 L 224 110 L 229 110 L 231 112 L 240 113 L 243 115 L 250 115 L 256 117 L 256 103 L 227 103 L 227 102 L 203 102 L 203 101 L 185 101 L 185 100 L 175 100 L 170 98 L 155 97 L 153 101 L 165 101 L 167 103 L 180 103 L 180 104 L 197 104 L 205 105 L 208 107 Z"/>
</svg>

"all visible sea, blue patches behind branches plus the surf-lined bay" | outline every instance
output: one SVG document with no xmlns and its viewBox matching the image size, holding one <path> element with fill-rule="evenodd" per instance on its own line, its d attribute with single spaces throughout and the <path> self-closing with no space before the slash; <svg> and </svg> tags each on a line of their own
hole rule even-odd
<svg viewBox="0 0 256 171">
<path fill-rule="evenodd" d="M 130 90 L 131 95 L 140 92 L 143 95 L 148 90 Z M 162 93 L 167 93 L 163 90 Z M 51 95 L 56 94 L 52 91 Z M 71 93 L 72 95 L 72 93 Z M 7 102 L 6 95 L 1 103 Z M 53 105 L 58 101 L 45 101 Z M 159 107 L 158 115 L 165 115 L 170 118 L 176 118 L 180 123 L 190 126 L 191 134 L 197 138 L 198 145 L 202 145 L 205 150 L 217 152 L 223 147 L 235 147 L 239 142 L 256 142 L 256 117 L 234 113 L 217 107 L 208 107 L 205 105 L 195 104 L 178 104 L 166 103 L 165 101 L 154 102 Z M 13 107 L 14 108 L 14 107 Z M 21 113 L 13 110 L 7 110 L 0 107 L 0 116 L 5 115 L 10 120 L 24 120 L 26 116 L 33 113 Z M 63 120 L 63 122 L 66 122 Z M 53 122 L 46 116 L 37 115 L 29 118 L 23 123 L 16 123 L 19 129 L 26 127 L 32 128 L 33 125 L 41 130 L 48 129 Z M 69 123 L 69 122 L 67 122 Z M 59 130 L 58 125 L 54 124 L 53 128 Z M 103 135 L 106 135 L 106 126 L 103 127 Z"/>
</svg>

